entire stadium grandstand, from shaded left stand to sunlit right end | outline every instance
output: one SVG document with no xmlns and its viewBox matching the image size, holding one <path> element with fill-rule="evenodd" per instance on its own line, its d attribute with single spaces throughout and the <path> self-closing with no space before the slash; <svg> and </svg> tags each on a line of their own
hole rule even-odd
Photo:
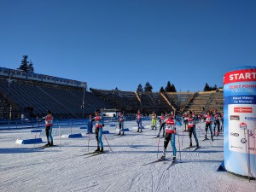
<svg viewBox="0 0 256 192">
<path fill-rule="evenodd" d="M 83 108 L 84 102 L 84 108 Z M 87 83 L 0 67 L 0 118 L 36 118 L 51 110 L 61 118 L 86 118 L 96 108 L 125 113 L 223 111 L 223 90 L 206 92 L 141 92 L 87 90 Z"/>
</svg>

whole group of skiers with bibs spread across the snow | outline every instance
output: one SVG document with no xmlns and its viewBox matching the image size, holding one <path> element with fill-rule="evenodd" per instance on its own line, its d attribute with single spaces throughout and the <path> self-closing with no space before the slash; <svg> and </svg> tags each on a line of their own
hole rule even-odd
<svg viewBox="0 0 256 192">
<path fill-rule="evenodd" d="M 175 146 L 175 135 L 177 134 L 177 129 L 176 125 L 182 125 L 180 122 L 180 119 L 177 119 L 175 116 L 176 109 L 172 108 L 173 111 L 170 113 L 161 113 L 160 117 L 157 117 L 156 113 L 151 113 L 149 114 L 149 117 L 152 119 L 152 126 L 151 130 L 157 130 L 157 120 L 160 122 L 160 131 L 157 135 L 157 137 L 160 137 L 160 132 L 163 130 L 162 137 L 165 138 L 164 140 L 164 150 L 163 154 L 160 157 L 160 160 L 164 160 L 166 158 L 166 148 L 168 146 L 168 143 L 171 141 L 172 144 L 172 160 L 176 160 L 176 153 L 177 149 Z M 51 112 L 48 111 L 47 115 L 40 120 L 45 121 L 45 133 L 47 137 L 48 143 L 46 146 L 53 146 L 53 137 L 51 136 L 52 128 L 51 126 L 53 125 L 53 117 L 51 115 Z M 143 131 L 143 125 L 142 125 L 142 119 L 143 116 L 141 114 L 141 111 L 138 110 L 136 114 L 136 121 L 137 121 L 137 132 L 142 132 Z M 198 138 L 196 137 L 196 131 L 195 131 L 195 121 L 198 119 L 204 119 L 206 122 L 205 126 L 205 139 L 207 139 L 207 131 L 208 129 L 211 132 L 211 139 L 213 141 L 213 136 L 215 136 L 215 128 L 217 127 L 216 131 L 216 136 L 218 136 L 218 133 L 220 131 L 220 122 L 223 119 L 222 113 L 218 113 L 217 110 L 214 112 L 207 111 L 207 113 L 204 113 L 202 115 L 198 115 L 196 113 L 193 113 L 192 111 L 189 111 L 189 113 L 183 113 L 183 125 L 184 125 L 184 130 L 183 131 L 188 131 L 189 132 L 189 147 L 192 147 L 192 135 L 195 138 L 195 147 L 199 148 L 199 142 Z M 119 122 L 119 134 L 118 135 L 125 135 L 124 131 L 124 114 L 119 111 L 119 114 L 117 116 L 117 120 Z M 102 128 L 104 126 L 104 121 L 103 117 L 101 115 L 101 111 L 99 109 L 96 109 L 95 111 L 95 117 L 92 118 L 92 115 L 90 115 L 90 124 L 89 126 L 92 126 L 92 122 L 95 121 L 95 134 L 96 134 L 96 142 L 97 142 L 97 148 L 96 152 L 103 152 L 103 142 L 102 142 Z M 213 132 L 212 132 L 212 122 L 214 123 L 213 127 Z M 223 123 L 223 121 L 222 121 Z M 91 130 L 92 127 L 90 127 Z"/>
</svg>

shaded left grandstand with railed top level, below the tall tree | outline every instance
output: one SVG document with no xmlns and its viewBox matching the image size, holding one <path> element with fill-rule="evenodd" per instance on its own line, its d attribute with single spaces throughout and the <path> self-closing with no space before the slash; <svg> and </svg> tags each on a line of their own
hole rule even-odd
<svg viewBox="0 0 256 192">
<path fill-rule="evenodd" d="M 96 108 L 113 108 L 87 91 L 87 84 L 0 67 L 0 118 L 36 118 L 47 110 L 55 118 L 83 118 Z M 84 101 L 84 108 L 83 108 Z"/>
</svg>

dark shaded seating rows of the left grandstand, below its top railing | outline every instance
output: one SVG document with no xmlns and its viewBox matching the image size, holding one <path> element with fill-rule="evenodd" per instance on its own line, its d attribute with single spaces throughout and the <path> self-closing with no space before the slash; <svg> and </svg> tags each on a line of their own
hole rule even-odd
<svg viewBox="0 0 256 192">
<path fill-rule="evenodd" d="M 33 108 L 34 117 L 42 117 L 47 110 L 51 110 L 57 118 L 81 118 L 83 95 L 84 115 L 93 113 L 96 108 L 113 108 L 109 102 L 102 101 L 93 93 L 84 92 L 82 88 L 18 79 L 13 80 L 10 86 L 6 79 L 0 79 L 0 93 L 9 102 L 14 102 L 20 113 L 26 113 L 27 107 Z"/>
</svg>

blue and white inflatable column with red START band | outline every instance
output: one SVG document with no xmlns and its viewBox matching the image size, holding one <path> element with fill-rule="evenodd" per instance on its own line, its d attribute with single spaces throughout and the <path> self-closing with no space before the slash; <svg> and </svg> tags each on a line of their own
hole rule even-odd
<svg viewBox="0 0 256 192">
<path fill-rule="evenodd" d="M 256 67 L 224 74 L 224 166 L 229 172 L 256 177 Z"/>
</svg>

